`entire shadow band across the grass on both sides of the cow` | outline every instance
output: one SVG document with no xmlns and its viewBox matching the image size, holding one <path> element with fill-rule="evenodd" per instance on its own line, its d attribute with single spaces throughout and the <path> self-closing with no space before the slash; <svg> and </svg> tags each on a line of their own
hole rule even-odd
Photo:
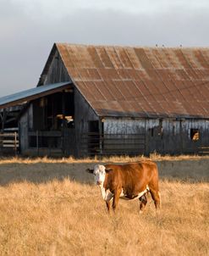
<svg viewBox="0 0 209 256">
<path fill-rule="evenodd" d="M 103 163 L 104 164 L 104 163 Z M 160 180 L 187 183 L 209 182 L 209 159 L 157 162 Z M 0 186 L 23 181 L 35 184 L 69 178 L 82 184 L 93 184 L 94 176 L 85 170 L 94 163 L 0 164 Z"/>
</svg>

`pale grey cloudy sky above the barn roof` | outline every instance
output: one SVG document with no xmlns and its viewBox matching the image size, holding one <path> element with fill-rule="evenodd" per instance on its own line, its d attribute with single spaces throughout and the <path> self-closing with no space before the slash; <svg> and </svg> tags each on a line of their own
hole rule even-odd
<svg viewBox="0 0 209 256">
<path fill-rule="evenodd" d="M 37 85 L 54 42 L 209 47 L 208 0 L 0 0 L 0 97 Z"/>
</svg>

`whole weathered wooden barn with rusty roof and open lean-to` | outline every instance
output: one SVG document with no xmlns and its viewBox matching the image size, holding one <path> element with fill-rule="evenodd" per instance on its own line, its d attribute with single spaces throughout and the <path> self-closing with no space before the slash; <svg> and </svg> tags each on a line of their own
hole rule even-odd
<svg viewBox="0 0 209 256">
<path fill-rule="evenodd" d="M 209 153 L 209 48 L 55 43 L 17 103 L 21 154 Z"/>
</svg>

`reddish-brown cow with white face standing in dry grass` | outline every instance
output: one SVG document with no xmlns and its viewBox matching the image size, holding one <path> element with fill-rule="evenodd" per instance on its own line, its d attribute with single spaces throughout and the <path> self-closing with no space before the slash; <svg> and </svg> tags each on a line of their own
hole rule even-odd
<svg viewBox="0 0 209 256">
<path fill-rule="evenodd" d="M 127 200 L 139 198 L 140 213 L 142 213 L 146 207 L 148 192 L 151 193 L 156 209 L 160 208 L 158 170 L 154 162 L 146 160 L 130 164 L 96 164 L 93 170 L 86 171 L 95 175 L 95 182 L 101 188 L 107 212 L 110 211 L 112 199 L 115 211 L 119 198 Z"/>
</svg>

